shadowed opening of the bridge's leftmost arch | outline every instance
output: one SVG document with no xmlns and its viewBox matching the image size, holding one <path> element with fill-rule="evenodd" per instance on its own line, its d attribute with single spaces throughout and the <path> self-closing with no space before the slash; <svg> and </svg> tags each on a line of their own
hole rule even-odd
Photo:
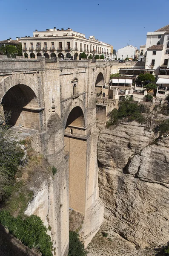
<svg viewBox="0 0 169 256">
<path fill-rule="evenodd" d="M 39 130 L 39 104 L 34 91 L 24 84 L 11 87 L 3 96 L 4 115 L 10 113 L 8 125 Z"/>
</svg>

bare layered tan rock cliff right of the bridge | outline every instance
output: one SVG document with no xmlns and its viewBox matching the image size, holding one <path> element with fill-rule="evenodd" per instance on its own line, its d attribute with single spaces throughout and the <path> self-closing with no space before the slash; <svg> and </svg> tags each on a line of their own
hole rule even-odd
<svg viewBox="0 0 169 256">
<path fill-rule="evenodd" d="M 112 230 L 138 246 L 169 241 L 169 137 L 136 122 L 100 130 L 99 189 Z"/>
</svg>

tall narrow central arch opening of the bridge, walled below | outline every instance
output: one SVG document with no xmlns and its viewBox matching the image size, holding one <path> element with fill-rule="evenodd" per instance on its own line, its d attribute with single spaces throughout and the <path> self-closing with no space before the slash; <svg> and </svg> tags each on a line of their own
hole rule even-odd
<svg viewBox="0 0 169 256">
<path fill-rule="evenodd" d="M 64 134 L 65 155 L 69 152 L 69 207 L 85 213 L 87 139 L 83 111 L 69 113 Z"/>
</svg>

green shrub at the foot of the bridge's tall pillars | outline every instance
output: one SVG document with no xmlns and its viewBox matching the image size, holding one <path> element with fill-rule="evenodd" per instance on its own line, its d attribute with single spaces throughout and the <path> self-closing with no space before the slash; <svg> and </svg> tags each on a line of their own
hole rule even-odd
<svg viewBox="0 0 169 256">
<path fill-rule="evenodd" d="M 87 251 L 83 243 L 79 240 L 79 235 L 75 231 L 69 231 L 69 253 L 68 256 L 86 256 Z"/>
</svg>

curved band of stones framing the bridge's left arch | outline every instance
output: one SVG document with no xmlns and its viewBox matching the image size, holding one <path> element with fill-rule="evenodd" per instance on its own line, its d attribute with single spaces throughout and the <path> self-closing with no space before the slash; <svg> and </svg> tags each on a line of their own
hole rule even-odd
<svg viewBox="0 0 169 256">
<path fill-rule="evenodd" d="M 34 79 L 25 74 L 13 74 L 11 76 L 6 77 L 0 82 L 0 103 L 2 102 L 3 96 L 7 93 L 7 91 L 18 84 L 24 84 L 30 87 L 35 95 L 37 96 L 37 100 L 40 104 L 39 93 L 38 93 L 38 84 Z"/>
</svg>

